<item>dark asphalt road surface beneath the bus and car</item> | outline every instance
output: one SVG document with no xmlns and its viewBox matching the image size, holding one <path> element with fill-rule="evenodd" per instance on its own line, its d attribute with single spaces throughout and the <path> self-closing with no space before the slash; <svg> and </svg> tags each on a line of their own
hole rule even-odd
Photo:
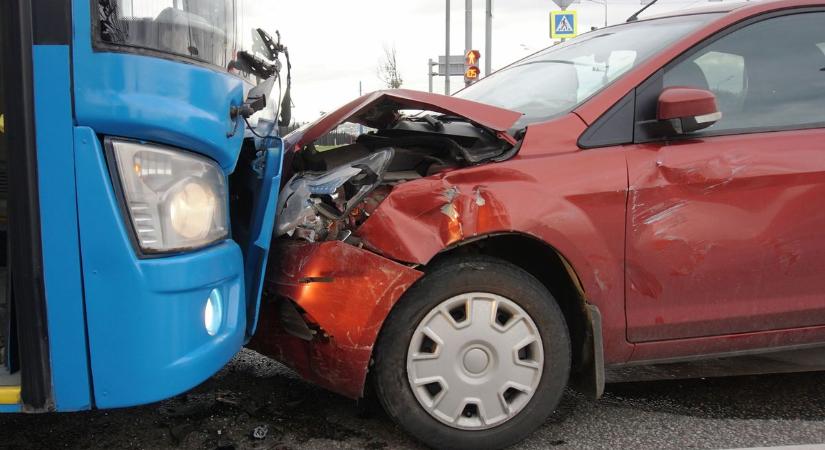
<svg viewBox="0 0 825 450">
<path fill-rule="evenodd" d="M 569 393 L 517 448 L 732 448 L 825 443 L 825 373 L 611 384 Z M 258 438 L 253 434 L 258 431 Z M 420 448 L 380 411 L 244 351 L 193 392 L 117 411 L 0 416 L 0 448 Z"/>
</svg>

